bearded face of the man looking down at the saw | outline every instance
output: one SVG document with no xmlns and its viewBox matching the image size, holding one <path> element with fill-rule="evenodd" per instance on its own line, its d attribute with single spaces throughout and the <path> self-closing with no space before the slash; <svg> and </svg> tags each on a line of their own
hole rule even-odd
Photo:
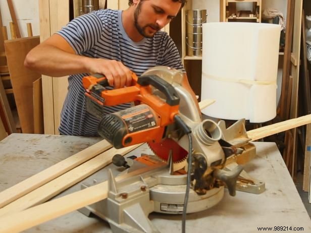
<svg viewBox="0 0 311 233">
<path fill-rule="evenodd" d="M 151 38 L 177 15 L 181 3 L 172 0 L 138 0 L 134 24 L 138 32 Z"/>
</svg>

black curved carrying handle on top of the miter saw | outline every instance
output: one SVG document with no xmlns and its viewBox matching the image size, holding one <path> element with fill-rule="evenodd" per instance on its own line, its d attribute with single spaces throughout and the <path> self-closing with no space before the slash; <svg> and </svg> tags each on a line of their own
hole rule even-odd
<svg viewBox="0 0 311 233">
<path fill-rule="evenodd" d="M 161 79 L 157 75 L 148 75 L 148 76 L 140 76 L 137 80 L 137 83 L 141 86 L 151 85 L 157 88 L 166 96 L 166 103 L 170 106 L 175 106 L 179 104 L 180 98 L 170 83 Z"/>
</svg>

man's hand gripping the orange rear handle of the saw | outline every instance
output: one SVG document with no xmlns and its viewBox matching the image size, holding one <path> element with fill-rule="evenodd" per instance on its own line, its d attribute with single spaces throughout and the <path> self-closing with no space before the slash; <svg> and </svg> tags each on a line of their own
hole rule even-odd
<svg viewBox="0 0 311 233">
<path fill-rule="evenodd" d="M 107 59 L 90 59 L 86 65 L 91 74 L 102 74 L 114 88 L 129 87 L 132 82 L 131 71 L 121 62 Z"/>
</svg>

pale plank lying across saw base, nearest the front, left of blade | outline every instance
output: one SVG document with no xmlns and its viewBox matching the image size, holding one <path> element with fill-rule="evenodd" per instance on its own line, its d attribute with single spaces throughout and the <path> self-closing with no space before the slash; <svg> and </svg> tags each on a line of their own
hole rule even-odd
<svg viewBox="0 0 311 233">
<path fill-rule="evenodd" d="M 163 166 L 159 163 L 146 168 L 116 177 L 116 181 L 128 179 L 138 174 L 142 174 L 148 170 L 156 169 Z M 103 182 L 98 185 L 91 186 L 81 191 L 60 197 L 49 202 L 34 206 L 32 208 L 16 212 L 0 219 L 0 232 L 20 232 L 32 226 L 38 225 L 50 219 L 70 213 L 84 206 L 93 204 L 108 197 L 108 182 Z M 68 205 L 70 203 L 70 205 Z M 18 221 L 16 220 L 18 219 Z"/>
</svg>

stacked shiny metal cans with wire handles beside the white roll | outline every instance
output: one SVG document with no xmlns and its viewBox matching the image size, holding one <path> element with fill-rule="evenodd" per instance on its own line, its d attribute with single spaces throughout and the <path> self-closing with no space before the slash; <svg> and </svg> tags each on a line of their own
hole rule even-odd
<svg viewBox="0 0 311 233">
<path fill-rule="evenodd" d="M 206 23 L 206 10 L 186 11 L 186 44 L 188 56 L 202 56 L 202 24 Z"/>
</svg>

